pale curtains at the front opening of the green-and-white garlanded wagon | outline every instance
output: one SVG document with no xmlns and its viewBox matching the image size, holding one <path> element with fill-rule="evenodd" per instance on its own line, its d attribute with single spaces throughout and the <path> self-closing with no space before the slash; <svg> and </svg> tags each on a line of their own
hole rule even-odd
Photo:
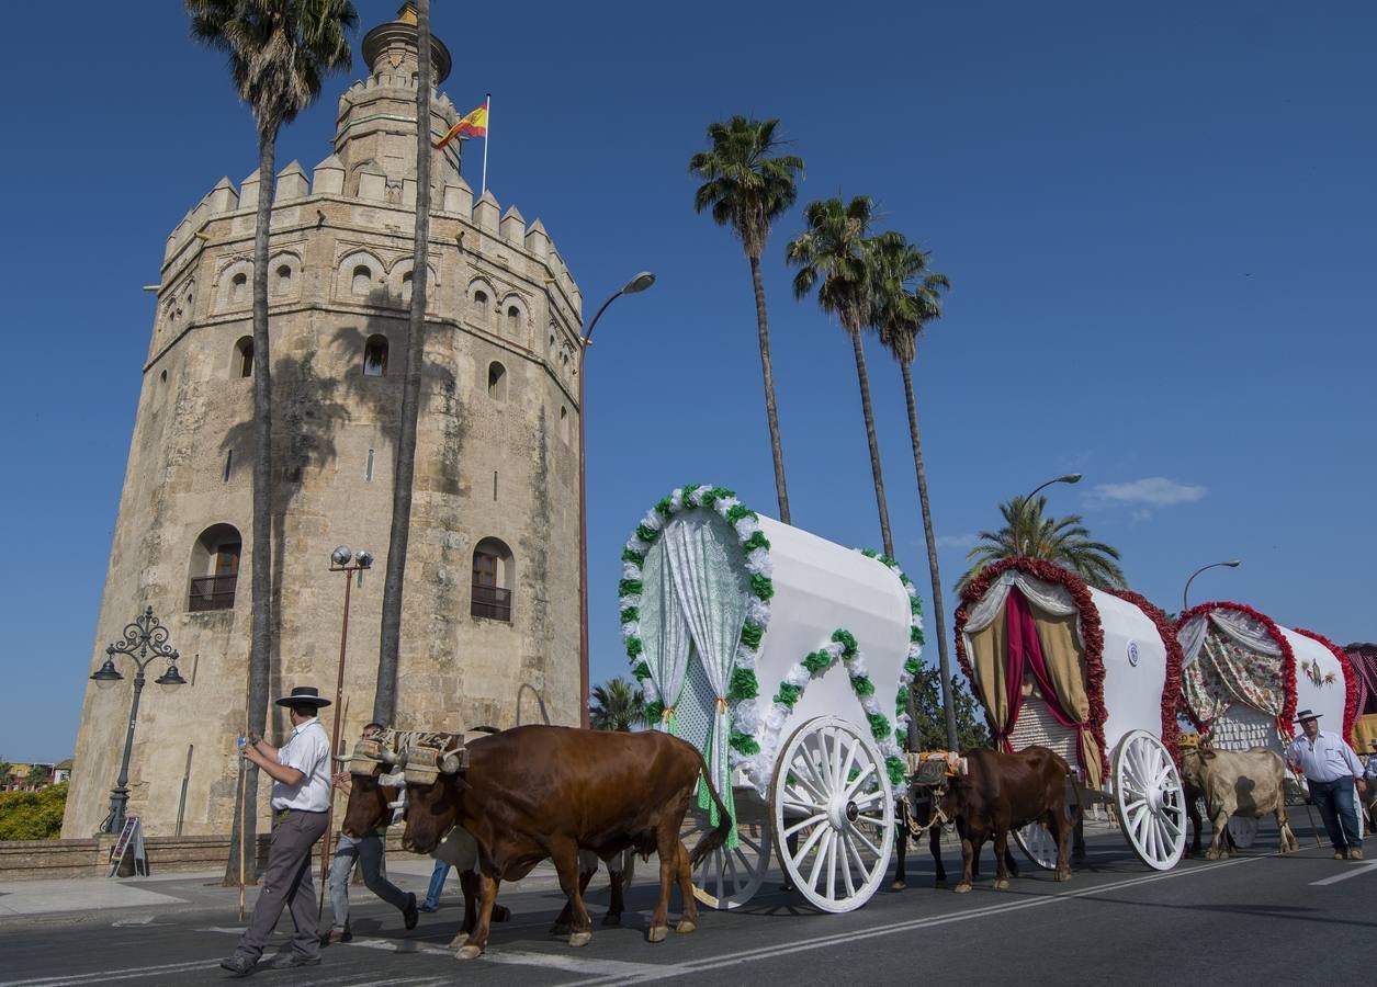
<svg viewBox="0 0 1377 987">
<path fill-rule="evenodd" d="M 739 559 L 728 556 L 733 538 L 722 537 L 715 526 L 724 524 L 715 513 L 702 511 L 676 518 L 664 531 L 665 559 L 673 580 L 675 596 L 683 611 L 694 648 L 716 692 L 716 709 L 708 731 L 704 757 L 712 783 L 722 796 L 727 811 L 735 815 L 731 796 L 731 719 L 727 713 L 727 691 L 731 669 L 746 618 L 746 574 Z M 698 805 L 709 811 L 716 825 L 716 804 L 705 786 L 700 786 Z M 735 830 L 728 837 L 728 849 L 735 847 Z"/>
</svg>

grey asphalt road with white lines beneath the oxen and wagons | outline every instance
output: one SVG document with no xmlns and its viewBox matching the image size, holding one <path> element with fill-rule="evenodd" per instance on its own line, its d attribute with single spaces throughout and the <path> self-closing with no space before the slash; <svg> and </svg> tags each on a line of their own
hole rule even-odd
<svg viewBox="0 0 1377 987">
<path fill-rule="evenodd" d="M 969 895 L 932 887 L 927 855 L 910 856 L 909 887 L 881 891 L 863 909 L 818 914 L 775 882 L 744 910 L 702 911 L 697 932 L 644 940 L 654 899 L 646 882 L 624 926 L 596 929 L 570 948 L 548 935 L 562 902 L 554 889 L 504 893 L 514 921 L 494 925 L 483 958 L 460 962 L 445 948 L 461 915 L 457 896 L 403 932 L 398 914 L 354 891 L 348 944 L 325 950 L 317 968 L 263 969 L 252 983 L 421 987 L 424 984 L 613 984 L 691 979 L 697 984 L 1371 983 L 1377 955 L 1377 860 L 1338 862 L 1315 849 L 1271 853 L 1263 829 L 1243 855 L 1186 860 L 1150 871 L 1114 834 L 1089 840 L 1089 860 L 1069 884 L 1024 869 L 997 892 L 986 875 Z M 947 851 L 949 867 L 954 851 Z M 916 866 L 914 866 L 916 864 Z M 591 911 L 606 907 L 595 878 Z M 175 882 L 150 889 L 176 895 Z M 766 891 L 768 893 L 766 893 Z M 140 909 L 11 918 L 0 924 L 0 987 L 222 983 L 218 968 L 238 933 L 233 892 Z M 227 902 L 227 904 L 226 904 Z M 328 907 L 328 906 L 326 906 Z M 280 940 L 289 920 L 284 917 Z"/>
</svg>

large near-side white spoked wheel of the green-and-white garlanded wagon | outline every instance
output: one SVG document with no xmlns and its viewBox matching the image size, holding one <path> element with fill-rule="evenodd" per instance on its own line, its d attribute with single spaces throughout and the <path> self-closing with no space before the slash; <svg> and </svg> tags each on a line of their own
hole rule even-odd
<svg viewBox="0 0 1377 987">
<path fill-rule="evenodd" d="M 839 716 L 808 720 L 779 750 L 770 794 L 775 852 L 799 893 L 823 911 L 870 900 L 894 849 L 894 790 L 874 742 Z"/>
</svg>

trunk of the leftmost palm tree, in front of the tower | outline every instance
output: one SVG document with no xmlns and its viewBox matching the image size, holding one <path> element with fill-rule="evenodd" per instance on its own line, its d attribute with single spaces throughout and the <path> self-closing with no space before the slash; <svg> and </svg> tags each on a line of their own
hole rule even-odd
<svg viewBox="0 0 1377 987">
<path fill-rule="evenodd" d="M 267 335 L 267 238 L 273 222 L 275 183 L 274 156 L 277 124 L 259 128 L 259 201 L 253 220 L 253 542 L 249 551 L 252 580 L 252 639 L 249 643 L 249 732 L 263 736 L 267 731 L 267 687 L 271 675 L 273 633 L 273 359 Z M 257 869 L 257 765 L 240 758 L 245 772 L 244 801 L 234 807 L 230 859 L 224 882 L 238 884 L 240 847 L 248 848 L 248 869 L 256 880 Z M 242 840 L 240 837 L 242 827 Z"/>
</svg>

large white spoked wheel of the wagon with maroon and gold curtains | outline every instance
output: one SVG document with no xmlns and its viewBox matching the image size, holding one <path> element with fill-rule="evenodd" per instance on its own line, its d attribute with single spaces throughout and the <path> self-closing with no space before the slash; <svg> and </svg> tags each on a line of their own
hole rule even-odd
<svg viewBox="0 0 1377 987">
<path fill-rule="evenodd" d="M 1159 739 L 1129 731 L 1114 750 L 1114 803 L 1137 859 L 1170 870 L 1186 852 L 1186 796 L 1180 772 Z"/>
</svg>

